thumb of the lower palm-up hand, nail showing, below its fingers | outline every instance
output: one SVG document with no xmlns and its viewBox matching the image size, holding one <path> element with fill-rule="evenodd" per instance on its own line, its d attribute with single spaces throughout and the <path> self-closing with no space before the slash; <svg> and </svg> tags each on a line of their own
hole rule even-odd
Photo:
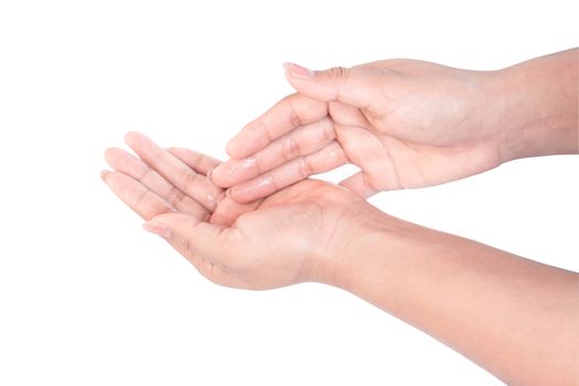
<svg viewBox="0 0 579 386">
<path fill-rule="evenodd" d="M 201 256 L 217 262 L 224 254 L 224 227 L 184 213 L 163 213 L 142 225 L 144 230 L 165 238 L 180 254 Z"/>
</svg>

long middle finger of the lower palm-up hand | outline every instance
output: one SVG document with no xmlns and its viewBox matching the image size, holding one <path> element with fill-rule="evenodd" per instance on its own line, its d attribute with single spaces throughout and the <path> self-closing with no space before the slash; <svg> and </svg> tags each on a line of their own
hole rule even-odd
<svg viewBox="0 0 579 386">
<path fill-rule="evenodd" d="M 125 150 L 110 148 L 105 151 L 105 160 L 112 169 L 139 181 L 178 211 L 199 218 L 208 217 L 208 212 L 203 205 L 173 186 L 139 158 Z"/>
</svg>

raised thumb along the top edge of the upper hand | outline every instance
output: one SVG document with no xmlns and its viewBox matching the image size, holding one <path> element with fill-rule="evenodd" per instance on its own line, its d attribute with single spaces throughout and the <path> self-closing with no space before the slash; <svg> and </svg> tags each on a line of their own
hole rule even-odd
<svg viewBox="0 0 579 386">
<path fill-rule="evenodd" d="M 283 68 L 290 85 L 314 99 L 368 108 L 378 94 L 375 75 L 360 67 L 312 71 L 294 63 L 283 63 Z"/>
</svg>

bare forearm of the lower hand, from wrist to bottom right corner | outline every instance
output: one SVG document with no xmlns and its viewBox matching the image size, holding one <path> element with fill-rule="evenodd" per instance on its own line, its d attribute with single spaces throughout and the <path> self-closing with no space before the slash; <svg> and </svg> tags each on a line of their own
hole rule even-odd
<svg viewBox="0 0 579 386">
<path fill-rule="evenodd" d="M 507 384 L 579 380 L 577 274 L 418 226 L 372 233 L 346 250 L 337 286 Z"/>
</svg>

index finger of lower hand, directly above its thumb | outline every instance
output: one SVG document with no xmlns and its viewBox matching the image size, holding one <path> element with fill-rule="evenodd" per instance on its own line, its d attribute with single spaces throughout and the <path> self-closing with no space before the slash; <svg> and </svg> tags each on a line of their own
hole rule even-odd
<svg viewBox="0 0 579 386">
<path fill-rule="evenodd" d="M 160 196 L 124 173 L 103 171 L 100 176 L 112 193 L 144 219 L 172 212 L 171 206 Z"/>
</svg>

